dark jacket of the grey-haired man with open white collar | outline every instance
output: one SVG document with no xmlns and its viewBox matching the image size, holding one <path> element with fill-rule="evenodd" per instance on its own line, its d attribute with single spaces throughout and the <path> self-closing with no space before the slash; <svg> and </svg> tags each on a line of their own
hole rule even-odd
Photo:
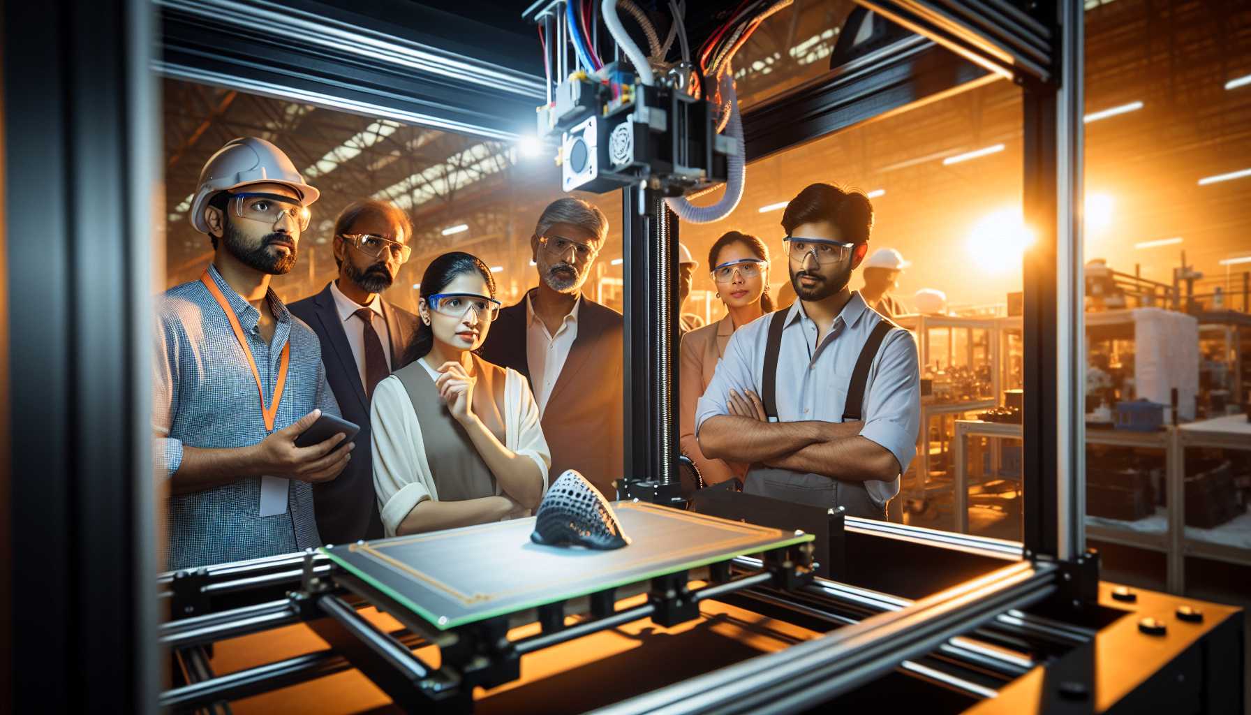
<svg viewBox="0 0 1251 715">
<path fill-rule="evenodd" d="M 609 500 L 617 498 L 612 483 L 624 470 L 622 334 L 622 314 L 583 296 L 578 337 L 543 411 L 543 436 L 552 450 L 550 478 L 578 470 Z M 530 379 L 524 298 L 499 312 L 480 353 L 487 362 Z"/>
</svg>

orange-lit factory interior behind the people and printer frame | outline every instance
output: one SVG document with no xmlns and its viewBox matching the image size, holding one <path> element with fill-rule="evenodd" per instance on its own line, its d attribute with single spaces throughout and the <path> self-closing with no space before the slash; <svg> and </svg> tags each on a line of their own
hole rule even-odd
<svg viewBox="0 0 1251 715">
<path fill-rule="evenodd" d="M 764 24 L 737 61 L 744 110 L 829 71 L 829 28 L 849 9 L 796 0 Z M 1087 331 L 1075 361 L 1087 367 L 1088 537 L 1112 579 L 1237 597 L 1236 584 L 1251 582 L 1251 455 L 1187 447 L 1187 423 L 1242 419 L 1232 416 L 1251 391 L 1251 10 L 1232 0 L 1090 0 L 1086 9 Z M 537 283 L 529 238 L 559 195 L 550 148 L 173 79 L 163 93 L 165 287 L 194 280 L 211 257 L 186 212 L 199 167 L 239 135 L 275 143 L 322 190 L 296 269 L 274 280 L 284 301 L 334 278 L 333 218 L 362 197 L 413 219 L 413 257 L 385 293 L 400 307 L 417 309 L 422 272 L 452 249 L 492 267 L 505 304 Z M 701 263 L 683 312 L 709 322 L 724 313 L 707 273 L 721 233 L 756 234 L 777 257 L 782 209 L 798 189 L 836 182 L 866 192 L 876 210 L 871 248 L 911 262 L 894 296 L 912 313 L 899 322 L 922 358 L 921 448 L 893 517 L 1005 540 L 1021 537 L 1012 407 L 1031 242 L 1021 218 L 1021 104 L 1016 85 L 987 80 L 756 160 L 734 214 L 681 228 Z M 578 195 L 613 222 L 585 291 L 620 309 L 619 192 Z M 774 258 L 774 296 L 786 280 Z M 916 301 L 923 289 L 945 302 Z M 1132 412 L 1140 399 L 1152 406 Z M 1168 497 L 1180 492 L 1185 533 L 1175 538 Z"/>
</svg>

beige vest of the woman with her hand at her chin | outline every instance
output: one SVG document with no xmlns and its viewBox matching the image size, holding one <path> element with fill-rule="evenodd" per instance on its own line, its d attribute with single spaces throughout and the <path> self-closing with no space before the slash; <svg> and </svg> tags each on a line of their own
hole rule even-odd
<svg viewBox="0 0 1251 715">
<path fill-rule="evenodd" d="M 473 374 L 478 383 L 473 391 L 473 411 L 500 443 L 504 442 L 504 369 L 470 353 Z M 495 475 L 473 446 L 469 433 L 448 412 L 434 381 L 420 361 L 395 371 L 422 426 L 425 461 L 434 476 L 439 501 L 464 501 L 497 493 Z"/>
</svg>

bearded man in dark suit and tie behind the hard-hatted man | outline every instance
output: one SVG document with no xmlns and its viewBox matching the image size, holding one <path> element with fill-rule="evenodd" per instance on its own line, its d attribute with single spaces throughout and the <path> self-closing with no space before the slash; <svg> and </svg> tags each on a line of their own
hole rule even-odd
<svg viewBox="0 0 1251 715">
<path fill-rule="evenodd" d="M 325 543 L 382 538 L 369 448 L 369 398 L 392 372 L 412 362 L 417 316 L 382 299 L 408 260 L 412 224 L 404 212 L 374 200 L 343 209 L 334 222 L 339 278 L 317 296 L 288 306 L 322 341 L 327 381 L 343 418 L 360 426 L 357 448 L 339 477 L 315 485 L 313 505 Z"/>
</svg>

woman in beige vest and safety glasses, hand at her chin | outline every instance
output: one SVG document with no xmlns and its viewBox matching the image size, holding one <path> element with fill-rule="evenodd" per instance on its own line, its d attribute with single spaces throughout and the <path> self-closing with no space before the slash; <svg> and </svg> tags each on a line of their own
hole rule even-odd
<svg viewBox="0 0 1251 715">
<path fill-rule="evenodd" d="M 435 258 L 418 308 L 418 359 L 379 382 L 370 404 L 387 536 L 530 513 L 552 453 L 525 378 L 473 352 L 499 314 L 490 269 L 468 253 Z"/>
</svg>

